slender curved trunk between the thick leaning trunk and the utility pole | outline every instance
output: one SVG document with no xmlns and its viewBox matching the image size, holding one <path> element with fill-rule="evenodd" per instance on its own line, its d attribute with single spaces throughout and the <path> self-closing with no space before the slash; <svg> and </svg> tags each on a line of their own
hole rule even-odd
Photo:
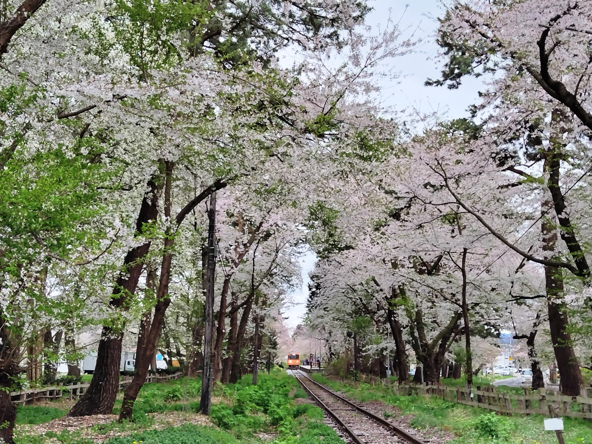
<svg viewBox="0 0 592 444">
<path fill-rule="evenodd" d="M 170 220 L 170 208 L 171 202 L 171 188 L 172 188 L 172 175 L 173 175 L 174 163 L 169 160 L 165 160 L 165 219 Z M 156 354 L 156 346 L 162 331 L 162 324 L 165 319 L 166 309 L 170 305 L 169 297 L 169 282 L 170 282 L 170 267 L 173 260 L 173 244 L 175 243 L 175 237 L 172 233 L 171 227 L 165 231 L 165 245 L 162 253 L 162 265 L 160 266 L 160 281 L 158 285 L 158 291 L 156 293 L 156 307 L 154 309 L 154 316 L 152 318 L 152 324 L 150 325 L 150 331 L 144 340 L 142 354 L 138 356 L 136 354 L 136 360 L 140 360 L 140 365 L 137 367 L 136 374 L 131 380 L 131 384 L 127 386 L 126 391 L 123 395 L 123 403 L 121 404 L 121 411 L 119 415 L 119 421 L 131 420 L 133 414 L 134 403 L 142 385 L 146 382 L 148 375 L 148 368 L 153 361 Z"/>
</svg>

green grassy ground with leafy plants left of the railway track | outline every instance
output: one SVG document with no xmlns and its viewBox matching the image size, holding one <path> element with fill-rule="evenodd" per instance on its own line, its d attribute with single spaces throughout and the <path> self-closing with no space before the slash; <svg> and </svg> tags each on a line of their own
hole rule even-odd
<svg viewBox="0 0 592 444">
<path fill-rule="evenodd" d="M 285 371 L 260 375 L 257 386 L 250 384 L 250 378 L 246 375 L 237 384 L 215 388 L 211 411 L 215 425 L 204 424 L 207 421 L 197 414 L 200 379 L 183 378 L 145 385 L 134 407 L 133 423 L 114 421 L 38 433 L 38 424 L 65 416 L 71 403 L 19 407 L 15 440 L 17 444 L 91 444 L 95 439 L 104 439 L 106 444 L 343 444 L 323 423 L 319 408 L 297 403 L 297 398 L 306 395 Z M 119 413 L 120 407 L 121 395 L 113 413 Z"/>
</svg>

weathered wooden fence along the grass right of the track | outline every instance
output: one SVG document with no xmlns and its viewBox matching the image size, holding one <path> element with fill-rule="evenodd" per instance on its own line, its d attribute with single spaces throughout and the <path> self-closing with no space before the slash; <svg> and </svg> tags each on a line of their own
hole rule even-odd
<svg viewBox="0 0 592 444">
<path fill-rule="evenodd" d="M 377 381 L 374 381 L 377 382 Z M 592 398 L 590 387 L 581 387 L 580 396 L 565 396 L 556 391 L 532 391 L 523 388 L 524 394 L 498 392 L 496 387 L 475 388 L 449 387 L 446 385 L 410 384 L 381 380 L 381 384 L 390 386 L 395 395 L 432 395 L 465 406 L 487 408 L 498 413 L 541 414 L 549 416 L 549 406 L 558 416 L 592 419 Z"/>
</svg>

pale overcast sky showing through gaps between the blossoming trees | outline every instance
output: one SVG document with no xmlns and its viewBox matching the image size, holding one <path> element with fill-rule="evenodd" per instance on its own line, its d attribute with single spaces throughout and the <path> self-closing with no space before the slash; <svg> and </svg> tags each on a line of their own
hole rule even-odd
<svg viewBox="0 0 592 444">
<path fill-rule="evenodd" d="M 477 79 L 464 81 L 459 89 L 450 90 L 445 86 L 424 86 L 428 78 L 438 78 L 442 62 L 437 60 L 439 47 L 435 43 L 437 29 L 436 17 L 442 15 L 442 0 L 416 0 L 407 4 L 401 0 L 375 0 L 370 2 L 374 10 L 369 14 L 367 22 L 371 25 L 385 27 L 388 17 L 392 21 L 401 20 L 401 28 L 415 31 L 416 36 L 422 38 L 422 43 L 412 54 L 397 59 L 395 69 L 401 76 L 397 81 L 384 81 L 381 87 L 385 92 L 384 105 L 401 110 L 414 107 L 416 110 L 429 114 L 438 111 L 449 118 L 464 117 L 466 109 L 478 99 L 477 91 L 482 83 Z M 301 259 L 303 266 L 303 286 L 300 291 L 292 295 L 294 307 L 290 307 L 284 316 L 288 317 L 286 324 L 294 328 L 300 323 L 306 311 L 308 295 L 308 273 L 314 268 L 316 256 L 308 253 Z"/>
</svg>

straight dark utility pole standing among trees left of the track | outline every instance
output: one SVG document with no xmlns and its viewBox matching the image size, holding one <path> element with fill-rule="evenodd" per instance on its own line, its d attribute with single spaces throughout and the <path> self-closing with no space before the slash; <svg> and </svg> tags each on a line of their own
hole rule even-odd
<svg viewBox="0 0 592 444">
<path fill-rule="evenodd" d="M 210 195 L 210 208 L 208 210 L 208 259 L 204 276 L 204 371 L 201 374 L 201 400 L 200 411 L 202 414 L 210 414 L 212 401 L 212 327 L 214 317 L 214 282 L 216 268 L 215 228 L 216 228 L 216 193 Z"/>
</svg>

